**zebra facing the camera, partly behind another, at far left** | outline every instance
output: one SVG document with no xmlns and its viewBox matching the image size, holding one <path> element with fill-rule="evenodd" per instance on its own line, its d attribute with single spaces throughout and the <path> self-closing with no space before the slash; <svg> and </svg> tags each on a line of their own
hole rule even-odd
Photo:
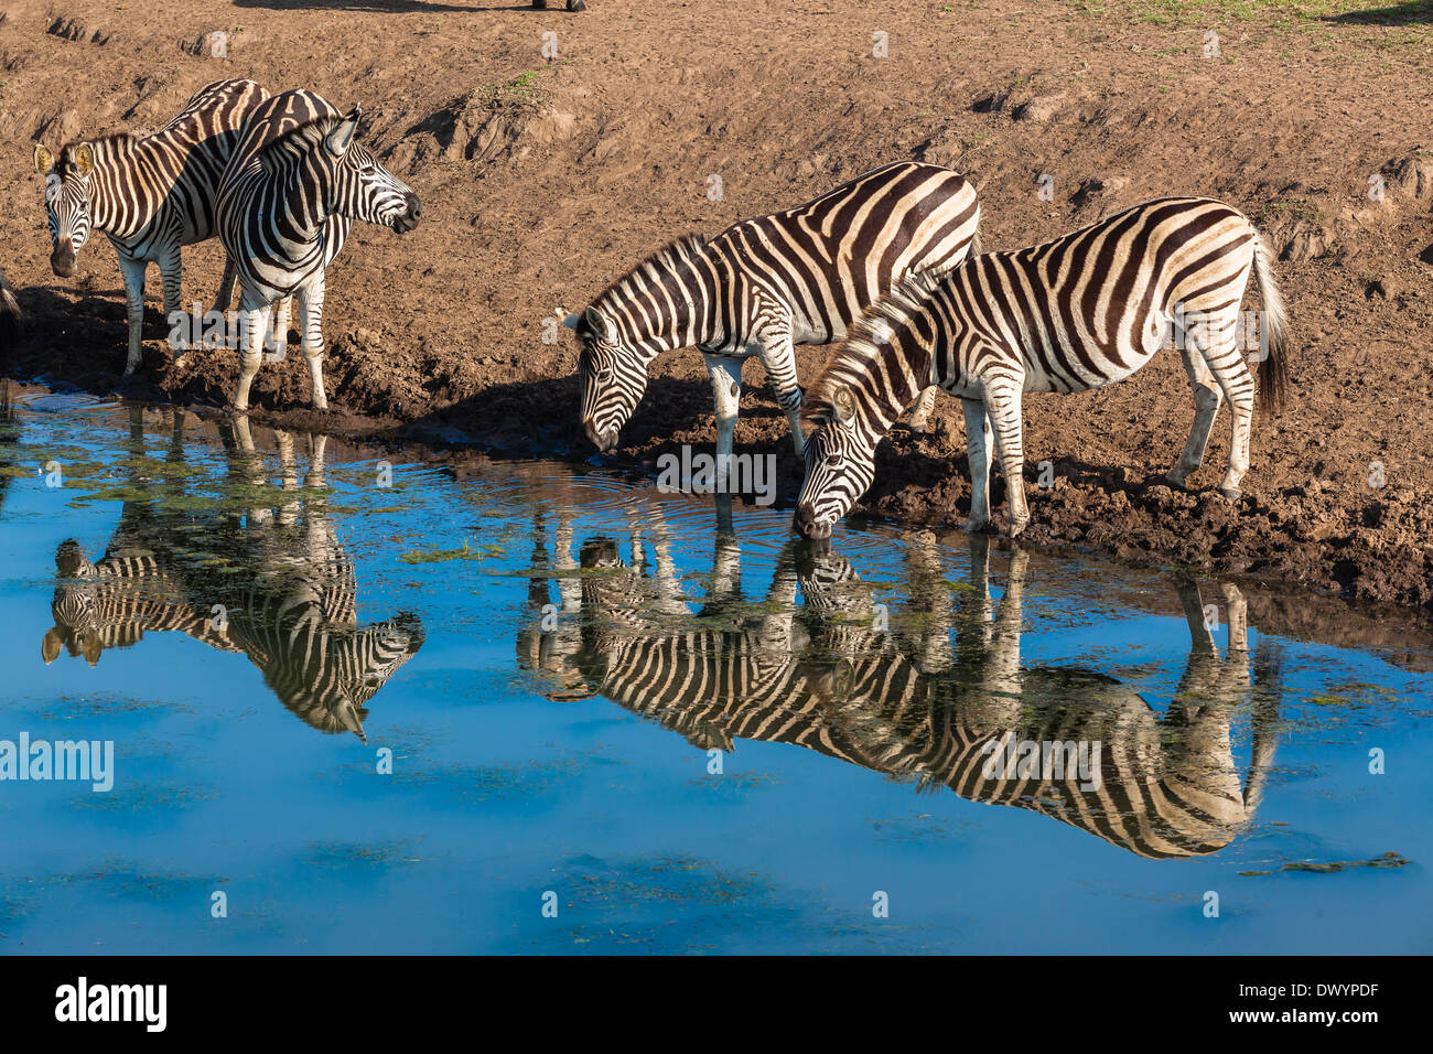
<svg viewBox="0 0 1433 1054">
<path fill-rule="evenodd" d="M 145 320 L 145 271 L 159 264 L 165 317 L 181 311 L 179 250 L 215 234 L 215 194 L 239 129 L 268 92 L 252 80 L 215 80 L 201 87 L 168 125 L 148 136 L 128 132 L 64 143 L 52 153 L 34 146 L 44 176 L 50 268 L 75 275 L 92 231 L 103 231 L 119 255 L 129 318 L 125 376 L 139 369 Z M 229 305 L 234 264 L 226 260 L 215 311 Z M 183 346 L 183 341 L 178 341 Z"/>
</svg>

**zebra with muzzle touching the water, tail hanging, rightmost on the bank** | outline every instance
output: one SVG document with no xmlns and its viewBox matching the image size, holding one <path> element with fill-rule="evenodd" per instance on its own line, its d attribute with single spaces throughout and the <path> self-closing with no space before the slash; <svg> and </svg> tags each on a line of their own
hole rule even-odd
<svg viewBox="0 0 1433 1054">
<path fill-rule="evenodd" d="M 1184 356 L 1195 414 L 1168 479 L 1182 488 L 1199 467 L 1214 414 L 1227 399 L 1230 463 L 1219 492 L 1238 500 L 1255 384 L 1235 324 L 1251 270 L 1264 301 L 1264 402 L 1277 410 L 1287 387 L 1284 301 L 1268 245 L 1222 202 L 1151 201 L 1033 248 L 973 257 L 940 280 L 898 283 L 811 386 L 802 413 L 815 430 L 792 531 L 830 536 L 870 486 L 881 435 L 901 407 L 936 383 L 959 396 L 964 412 L 972 482 L 966 529 L 980 531 L 990 521 L 993 424 L 1009 533 L 1019 535 L 1029 522 L 1022 393 L 1085 391 L 1123 380 L 1169 331 Z"/>
</svg>

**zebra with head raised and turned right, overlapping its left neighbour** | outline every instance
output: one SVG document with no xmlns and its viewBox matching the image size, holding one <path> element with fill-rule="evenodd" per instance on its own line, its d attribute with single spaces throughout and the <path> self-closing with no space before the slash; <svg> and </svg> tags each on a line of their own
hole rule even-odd
<svg viewBox="0 0 1433 1054">
<path fill-rule="evenodd" d="M 248 409 L 275 301 L 284 301 L 275 331 L 288 330 L 291 294 L 298 297 L 314 407 L 328 409 L 324 271 L 354 219 L 406 234 L 423 214 L 417 195 L 357 141 L 360 118 L 358 106 L 341 115 L 318 93 L 292 90 L 261 103 L 244 125 L 218 205 L 219 238 L 239 278 L 244 313 L 235 410 Z"/>
</svg>

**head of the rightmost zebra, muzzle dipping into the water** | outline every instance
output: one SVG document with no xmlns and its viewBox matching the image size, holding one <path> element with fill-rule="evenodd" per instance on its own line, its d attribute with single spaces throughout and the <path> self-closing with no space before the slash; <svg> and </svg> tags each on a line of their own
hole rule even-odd
<svg viewBox="0 0 1433 1054">
<path fill-rule="evenodd" d="M 850 387 L 838 387 L 828 406 L 813 404 L 804 416 L 817 429 L 807 439 L 807 475 L 791 531 L 805 538 L 830 538 L 835 521 L 876 478 L 876 443 L 856 413 Z"/>
</svg>

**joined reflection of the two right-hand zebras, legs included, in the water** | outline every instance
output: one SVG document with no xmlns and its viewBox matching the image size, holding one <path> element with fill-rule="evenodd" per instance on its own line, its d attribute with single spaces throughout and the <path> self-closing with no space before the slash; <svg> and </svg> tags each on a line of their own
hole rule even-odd
<svg viewBox="0 0 1433 1054">
<path fill-rule="evenodd" d="M 904 538 L 911 601 L 890 612 L 887 630 L 850 562 L 807 542 L 782 551 L 764 602 L 752 605 L 741 595 L 735 539 L 721 536 L 694 612 L 672 588 L 679 576 L 661 538 L 652 575 L 639 539 L 629 562 L 608 538 L 588 541 L 573 561 L 563 531 L 550 565 L 560 604 L 545 608 L 547 582 L 533 579 L 535 625 L 517 641 L 519 665 L 549 698 L 605 695 L 702 750 L 732 750 L 738 739 L 791 743 L 919 790 L 1030 809 L 1152 859 L 1218 852 L 1258 806 L 1275 747 L 1278 664 L 1261 641 L 1251 677 L 1245 601 L 1232 584 L 1221 587 L 1230 632 L 1221 655 L 1198 587 L 1176 579 L 1189 657 L 1159 714 L 1098 671 L 1022 664 L 1027 555 L 1010 552 L 995 604 L 987 538 L 970 539 L 973 588 L 963 595 L 946 581 L 933 535 Z M 542 554 L 545 533 L 539 523 Z M 1244 706 L 1252 760 L 1241 782 L 1231 734 Z M 1073 753 L 1062 766 L 1059 751 L 1053 771 L 1048 761 L 1007 763 L 1013 744 L 1082 743 L 1099 747 L 1089 754 L 1095 771 L 1082 771 Z"/>
</svg>

